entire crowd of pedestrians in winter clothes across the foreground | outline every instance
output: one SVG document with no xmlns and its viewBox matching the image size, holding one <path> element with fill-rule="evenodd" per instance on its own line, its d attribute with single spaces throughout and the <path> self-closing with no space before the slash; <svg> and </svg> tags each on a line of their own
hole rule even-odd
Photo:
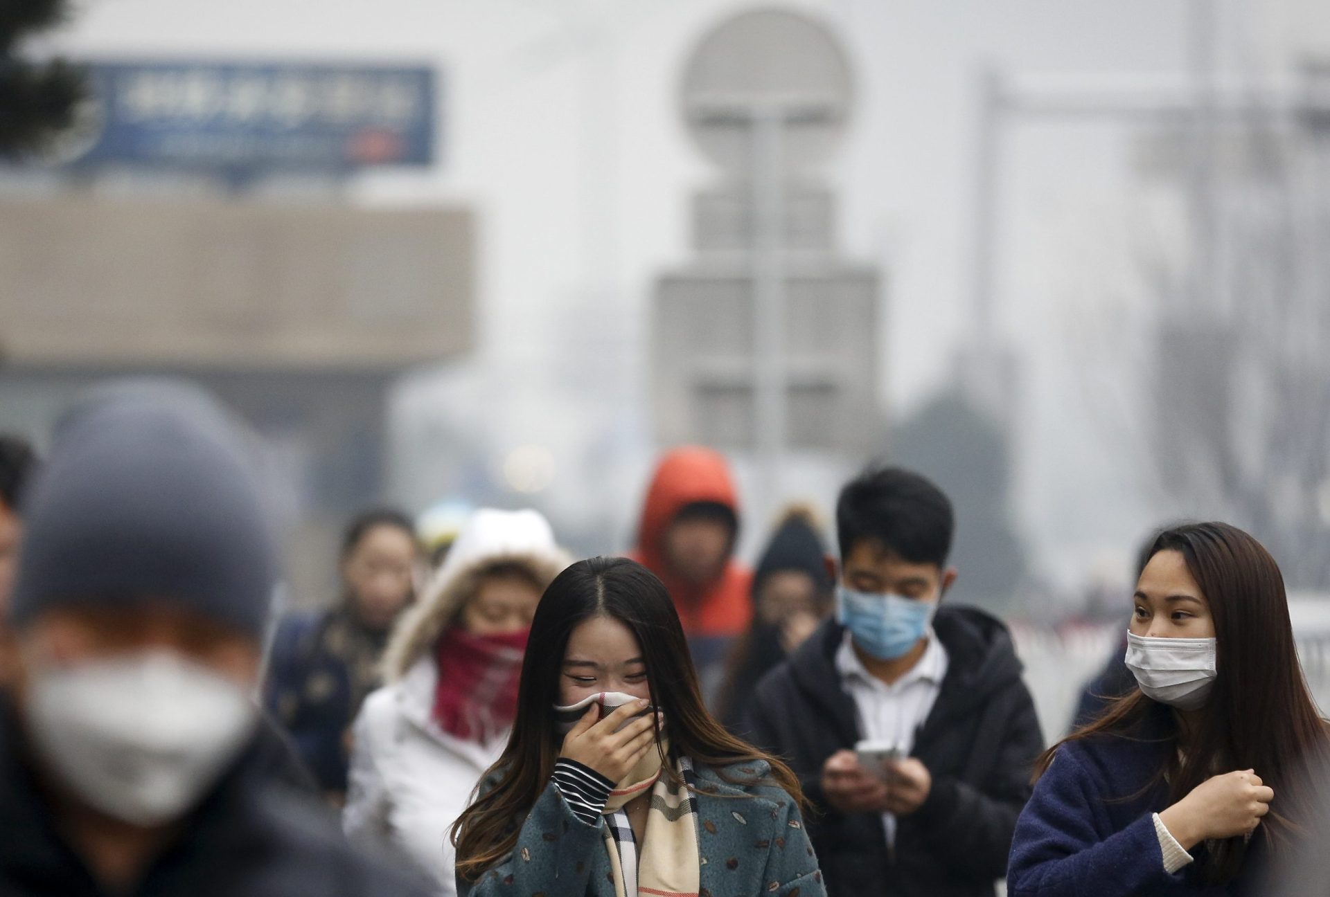
<svg viewBox="0 0 1330 897">
<path fill-rule="evenodd" d="M 831 545 L 789 508 L 755 569 L 717 452 L 641 505 L 588 559 L 532 509 L 367 509 L 339 594 L 274 619 L 209 396 L 0 439 L 0 894 L 1326 893 L 1330 732 L 1242 530 L 1148 541 L 1049 747 L 926 477 L 867 466 Z"/>
</svg>

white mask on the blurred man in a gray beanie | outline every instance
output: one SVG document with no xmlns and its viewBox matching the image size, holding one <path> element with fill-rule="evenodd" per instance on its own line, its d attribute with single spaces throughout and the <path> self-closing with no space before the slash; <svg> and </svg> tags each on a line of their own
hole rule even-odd
<svg viewBox="0 0 1330 897">
<path fill-rule="evenodd" d="M 136 825 L 190 811 L 254 731 L 245 690 L 172 651 L 32 672 L 28 730 L 61 783 Z"/>
</svg>

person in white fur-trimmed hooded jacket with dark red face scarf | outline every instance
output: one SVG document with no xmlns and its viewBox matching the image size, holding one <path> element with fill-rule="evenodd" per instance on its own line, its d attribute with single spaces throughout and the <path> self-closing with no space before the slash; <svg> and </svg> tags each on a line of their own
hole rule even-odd
<svg viewBox="0 0 1330 897">
<path fill-rule="evenodd" d="M 342 827 L 452 894 L 448 827 L 508 740 L 527 633 L 569 563 L 535 510 L 476 510 L 395 626 L 383 688 L 355 720 Z"/>
</svg>

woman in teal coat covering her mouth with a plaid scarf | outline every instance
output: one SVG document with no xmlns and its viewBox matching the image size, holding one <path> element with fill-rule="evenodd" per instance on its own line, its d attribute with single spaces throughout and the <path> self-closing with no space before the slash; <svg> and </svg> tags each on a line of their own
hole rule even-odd
<svg viewBox="0 0 1330 897">
<path fill-rule="evenodd" d="M 626 558 L 536 609 L 503 756 L 452 828 L 460 894 L 825 894 L 794 773 L 704 708 L 674 605 Z"/>
</svg>

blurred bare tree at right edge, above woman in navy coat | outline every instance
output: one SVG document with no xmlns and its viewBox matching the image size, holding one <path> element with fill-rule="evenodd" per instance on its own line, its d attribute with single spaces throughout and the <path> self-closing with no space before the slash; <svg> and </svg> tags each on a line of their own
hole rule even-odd
<svg viewBox="0 0 1330 897">
<path fill-rule="evenodd" d="M 1253 125 L 1217 140 L 1218 246 L 1200 280 L 1212 288 L 1198 295 L 1190 284 L 1185 241 L 1136 227 L 1127 251 L 1140 314 L 1109 327 L 1113 315 L 1130 318 L 1132 298 L 1088 302 L 1072 334 L 1079 372 L 1092 415 L 1161 510 L 1250 529 L 1290 586 L 1327 590 L 1330 141 Z M 1096 368 L 1130 399 L 1097 389 Z"/>
</svg>

